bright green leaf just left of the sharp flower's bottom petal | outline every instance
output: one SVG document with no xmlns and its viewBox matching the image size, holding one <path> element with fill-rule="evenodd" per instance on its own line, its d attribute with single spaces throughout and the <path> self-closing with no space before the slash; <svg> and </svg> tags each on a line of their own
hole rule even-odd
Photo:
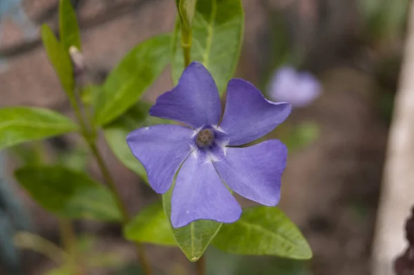
<svg viewBox="0 0 414 275">
<path fill-rule="evenodd" d="M 124 227 L 124 236 L 130 241 L 139 241 L 141 243 L 177 245 L 164 212 L 162 201 L 157 201 L 139 212 Z"/>
</svg>

